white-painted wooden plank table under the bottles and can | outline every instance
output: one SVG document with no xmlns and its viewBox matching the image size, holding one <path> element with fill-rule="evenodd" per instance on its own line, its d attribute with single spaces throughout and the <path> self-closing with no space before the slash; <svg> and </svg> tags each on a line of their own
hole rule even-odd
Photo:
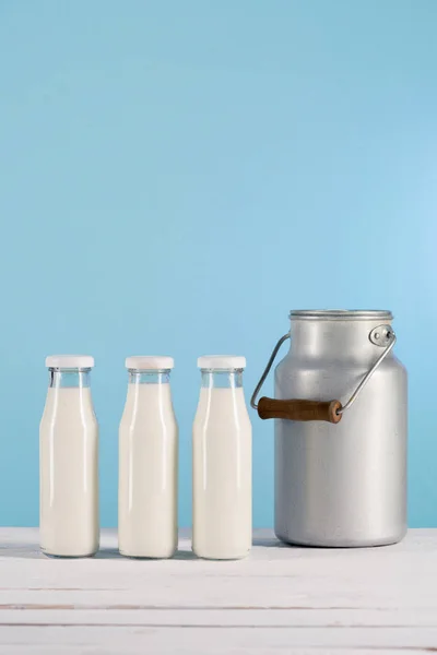
<svg viewBox="0 0 437 655">
<path fill-rule="evenodd" d="M 94 559 L 38 550 L 35 528 L 0 528 L 0 653 L 437 652 L 437 529 L 365 550 L 282 546 L 255 534 L 241 561 L 121 558 L 103 531 Z"/>
</svg>

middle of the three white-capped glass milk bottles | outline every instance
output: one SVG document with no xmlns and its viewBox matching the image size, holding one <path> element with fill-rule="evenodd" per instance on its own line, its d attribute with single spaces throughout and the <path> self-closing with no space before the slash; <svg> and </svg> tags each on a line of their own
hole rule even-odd
<svg viewBox="0 0 437 655">
<path fill-rule="evenodd" d="M 168 558 L 177 548 L 178 427 L 172 357 L 128 357 L 119 430 L 118 544 L 128 557 Z"/>
</svg>

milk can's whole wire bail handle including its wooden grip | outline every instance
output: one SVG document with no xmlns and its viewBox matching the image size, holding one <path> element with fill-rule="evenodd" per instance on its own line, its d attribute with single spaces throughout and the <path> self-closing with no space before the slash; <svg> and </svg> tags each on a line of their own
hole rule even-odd
<svg viewBox="0 0 437 655">
<path fill-rule="evenodd" d="M 386 359 L 387 355 L 393 348 L 397 337 L 390 325 L 379 325 L 375 327 L 370 334 L 369 340 L 376 346 L 386 346 L 381 356 L 376 360 L 374 366 L 364 376 L 358 386 L 355 389 L 349 401 L 342 405 L 340 401 L 304 401 L 304 400 L 285 400 L 279 401 L 276 398 L 268 398 L 263 396 L 257 404 L 257 396 L 261 391 L 265 378 L 268 377 L 270 369 L 276 358 L 277 352 L 282 344 L 291 338 L 290 332 L 281 336 L 280 341 L 273 348 L 273 353 L 267 364 L 264 372 L 262 373 L 260 381 L 258 382 L 253 395 L 250 398 L 250 405 L 253 409 L 257 409 L 260 418 L 285 418 L 287 420 L 324 420 L 332 424 L 338 424 L 344 412 L 346 412 L 351 405 L 356 401 L 358 394 L 363 391 L 364 386 L 370 380 L 371 376 Z"/>
</svg>

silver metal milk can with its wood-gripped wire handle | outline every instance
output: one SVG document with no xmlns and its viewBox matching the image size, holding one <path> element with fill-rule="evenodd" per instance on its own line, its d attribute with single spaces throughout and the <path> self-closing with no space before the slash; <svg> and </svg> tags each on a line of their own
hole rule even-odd
<svg viewBox="0 0 437 655">
<path fill-rule="evenodd" d="M 406 532 L 406 370 L 389 311 L 299 310 L 251 405 L 275 420 L 275 533 L 308 546 L 393 544 Z M 256 398 L 275 370 L 275 398 Z"/>
</svg>

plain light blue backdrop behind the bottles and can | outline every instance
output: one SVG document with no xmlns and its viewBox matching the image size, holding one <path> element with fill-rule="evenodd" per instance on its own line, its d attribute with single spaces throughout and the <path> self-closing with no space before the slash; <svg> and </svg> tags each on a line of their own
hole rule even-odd
<svg viewBox="0 0 437 655">
<path fill-rule="evenodd" d="M 176 358 L 187 525 L 197 356 L 246 355 L 249 396 L 291 308 L 379 307 L 410 524 L 437 525 L 436 23 L 435 0 L 0 0 L 0 524 L 38 522 L 47 354 L 96 358 L 104 525 L 125 356 Z"/>
</svg>

